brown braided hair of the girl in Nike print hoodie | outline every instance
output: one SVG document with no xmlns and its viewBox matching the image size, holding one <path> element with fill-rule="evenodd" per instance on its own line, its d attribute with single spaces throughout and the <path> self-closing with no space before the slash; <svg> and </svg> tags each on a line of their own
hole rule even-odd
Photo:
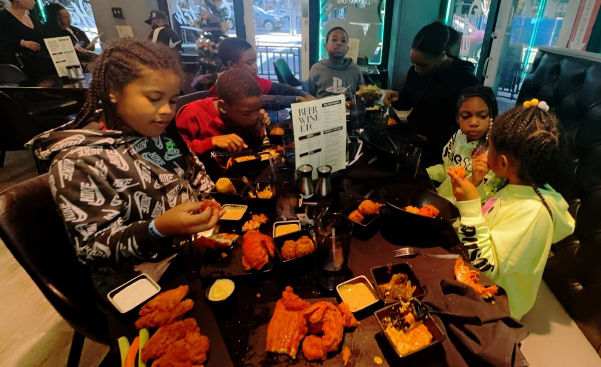
<svg viewBox="0 0 601 367">
<path fill-rule="evenodd" d="M 123 90 L 127 84 L 140 78 L 144 69 L 169 69 L 177 75 L 183 74 L 177 54 L 171 49 L 132 37 L 111 42 L 93 67 L 87 99 L 75 119 L 77 128 L 85 125 L 97 109 L 103 110 L 107 128 L 117 128 L 121 119 L 117 114 L 117 107 L 111 102 L 111 90 Z"/>
</svg>

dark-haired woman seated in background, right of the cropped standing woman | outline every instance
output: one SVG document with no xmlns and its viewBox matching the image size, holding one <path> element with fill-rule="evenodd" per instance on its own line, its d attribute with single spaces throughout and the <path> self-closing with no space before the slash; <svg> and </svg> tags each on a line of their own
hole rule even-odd
<svg viewBox="0 0 601 367">
<path fill-rule="evenodd" d="M 71 15 L 63 5 L 56 2 L 47 4 L 44 7 L 46 11 L 46 24 L 44 30 L 47 37 L 65 37 L 69 36 L 73 42 L 73 47 L 78 53 L 80 61 L 90 61 L 90 53 L 87 49 L 93 49 L 90 46 L 90 39 L 85 32 L 76 26 L 71 25 Z"/>
</svg>

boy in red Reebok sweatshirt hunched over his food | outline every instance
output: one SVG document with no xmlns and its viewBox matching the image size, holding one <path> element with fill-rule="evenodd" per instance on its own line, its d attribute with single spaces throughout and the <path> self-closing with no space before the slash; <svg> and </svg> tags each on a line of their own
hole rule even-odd
<svg viewBox="0 0 601 367">
<path fill-rule="evenodd" d="M 207 173 L 218 178 L 228 168 L 230 153 L 261 144 L 263 126 L 270 120 L 261 109 L 261 88 L 248 72 L 227 70 L 215 89 L 218 97 L 183 106 L 175 123 L 190 150 L 207 166 Z"/>
</svg>

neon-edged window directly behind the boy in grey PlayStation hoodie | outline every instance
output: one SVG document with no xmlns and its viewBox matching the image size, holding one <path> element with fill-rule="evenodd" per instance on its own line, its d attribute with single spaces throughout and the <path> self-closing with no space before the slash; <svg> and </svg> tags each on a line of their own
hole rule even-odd
<svg viewBox="0 0 601 367">
<path fill-rule="evenodd" d="M 349 34 L 349 39 L 358 40 L 359 57 L 367 57 L 370 64 L 382 63 L 385 12 L 386 0 L 321 0 L 320 59 L 328 58 L 323 49 L 328 30 L 341 26 Z"/>
</svg>

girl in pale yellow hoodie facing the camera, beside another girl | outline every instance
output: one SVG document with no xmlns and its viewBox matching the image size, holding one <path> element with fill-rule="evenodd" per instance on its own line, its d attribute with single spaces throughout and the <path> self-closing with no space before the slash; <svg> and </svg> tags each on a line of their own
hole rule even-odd
<svg viewBox="0 0 601 367">
<path fill-rule="evenodd" d="M 465 168 L 466 176 L 478 188 L 483 202 L 505 185 L 505 180 L 489 171 L 486 165 L 487 133 L 497 114 L 495 94 L 489 87 L 475 85 L 462 91 L 457 100 L 456 118 L 459 130 L 445 146 L 442 164 L 426 168 L 432 180 L 442 182 L 436 190 L 440 196 L 455 202 L 451 179 L 445 174 L 450 167 Z"/>
</svg>

